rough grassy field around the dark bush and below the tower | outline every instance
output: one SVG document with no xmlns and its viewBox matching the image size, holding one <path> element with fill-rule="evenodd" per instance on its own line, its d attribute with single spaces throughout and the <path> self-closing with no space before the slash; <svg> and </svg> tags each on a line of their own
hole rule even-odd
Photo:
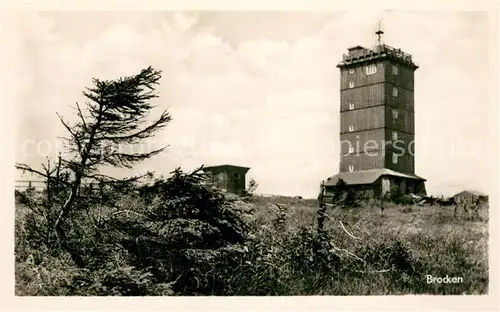
<svg viewBox="0 0 500 312">
<path fill-rule="evenodd" d="M 452 207 L 442 206 L 388 204 L 383 215 L 375 205 L 368 203 L 350 210 L 330 209 L 325 222 L 328 245 L 322 247 L 326 255 L 320 261 L 311 252 L 317 239 L 315 200 L 254 196 L 250 201 L 237 201 L 236 205 L 250 212 L 246 222 L 253 226 L 251 236 L 256 243 L 249 245 L 250 251 L 240 264 L 224 271 L 228 277 L 224 277 L 222 290 L 208 294 L 488 292 L 487 211 L 481 212 L 481 220 L 471 221 L 465 215 L 453 218 Z M 24 214 L 25 209 L 18 206 L 16 293 L 72 294 L 62 291 L 61 285 L 67 288 L 67 284 L 72 283 L 71 272 L 77 269 L 61 257 L 39 256 L 38 261 L 33 261 L 37 256 L 35 247 L 29 246 L 23 234 Z M 43 251 L 41 253 L 43 255 Z M 427 275 L 462 280 L 460 283 L 428 283 Z"/>
</svg>

